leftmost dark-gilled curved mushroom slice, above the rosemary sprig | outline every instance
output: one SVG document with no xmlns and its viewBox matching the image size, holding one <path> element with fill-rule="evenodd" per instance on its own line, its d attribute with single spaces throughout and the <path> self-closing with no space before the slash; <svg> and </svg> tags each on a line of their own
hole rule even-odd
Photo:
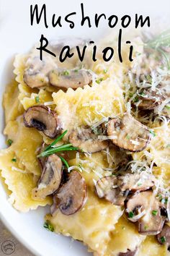
<svg viewBox="0 0 170 256">
<path fill-rule="evenodd" d="M 24 112 L 24 125 L 35 127 L 52 139 L 61 132 L 61 122 L 57 114 L 43 105 L 32 106 Z"/>
</svg>

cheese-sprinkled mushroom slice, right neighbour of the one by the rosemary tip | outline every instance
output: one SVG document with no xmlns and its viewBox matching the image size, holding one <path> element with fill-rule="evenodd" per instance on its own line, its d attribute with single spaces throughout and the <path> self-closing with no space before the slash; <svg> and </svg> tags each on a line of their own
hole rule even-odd
<svg viewBox="0 0 170 256">
<path fill-rule="evenodd" d="M 113 144 L 133 152 L 144 150 L 151 138 L 148 127 L 130 114 L 125 114 L 122 119 L 111 119 L 107 124 L 107 135 L 113 137 Z"/>
</svg>

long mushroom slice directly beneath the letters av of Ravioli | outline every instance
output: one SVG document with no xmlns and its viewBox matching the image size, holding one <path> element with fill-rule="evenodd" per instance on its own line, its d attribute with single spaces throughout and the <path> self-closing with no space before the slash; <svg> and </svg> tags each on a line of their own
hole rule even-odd
<svg viewBox="0 0 170 256">
<path fill-rule="evenodd" d="M 59 88 L 79 88 L 89 85 L 93 73 L 87 69 L 53 69 L 49 74 L 50 84 Z"/>
</svg>

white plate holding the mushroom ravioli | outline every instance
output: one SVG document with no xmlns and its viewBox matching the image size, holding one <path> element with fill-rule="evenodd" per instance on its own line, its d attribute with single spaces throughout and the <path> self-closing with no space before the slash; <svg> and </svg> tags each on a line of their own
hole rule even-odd
<svg viewBox="0 0 170 256">
<path fill-rule="evenodd" d="M 3 0 L 1 0 L 2 2 Z M 0 8 L 0 85 L 1 98 L 4 87 L 12 78 L 12 62 L 14 55 L 28 51 L 34 43 L 40 39 L 40 35 L 44 34 L 47 38 L 56 38 L 61 35 L 79 36 L 83 38 L 99 38 L 103 35 L 106 29 L 106 22 L 102 22 L 98 29 L 94 27 L 82 28 L 79 23 L 79 15 L 75 17 L 76 27 L 71 30 L 68 25 L 63 25 L 62 28 L 50 27 L 45 29 L 42 23 L 40 25 L 30 26 L 30 4 L 37 4 L 40 1 L 3 1 Z M 80 12 L 79 0 L 59 1 L 59 0 L 44 0 L 48 9 L 48 20 L 50 14 L 56 13 L 66 15 L 69 12 Z M 122 4 L 123 2 L 123 4 Z M 152 4 L 152 3 L 153 4 Z M 169 12 L 169 0 L 164 1 L 101 1 L 101 0 L 86 0 L 84 7 L 86 14 L 92 17 L 95 13 L 105 14 L 130 14 L 134 16 L 135 13 L 140 14 L 154 14 L 165 15 Z M 152 25 L 152 24 L 151 24 Z M 53 35 L 53 36 L 52 36 Z M 0 100 L 1 100 L 0 98 Z M 1 108 L 0 111 L 0 146 L 5 147 L 5 138 L 2 135 L 4 127 L 4 114 Z M 0 184 L 0 216 L 4 224 L 12 233 L 17 236 L 28 249 L 35 255 L 41 256 L 87 256 L 86 252 L 80 242 L 71 242 L 70 238 L 58 236 L 46 231 L 43 226 L 43 217 L 46 208 L 38 208 L 38 210 L 30 213 L 18 213 L 7 201 L 4 188 Z"/>
</svg>

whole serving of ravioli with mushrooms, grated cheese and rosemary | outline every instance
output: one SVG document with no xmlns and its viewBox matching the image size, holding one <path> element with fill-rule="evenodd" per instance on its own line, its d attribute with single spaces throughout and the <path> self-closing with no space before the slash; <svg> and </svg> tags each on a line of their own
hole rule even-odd
<svg viewBox="0 0 170 256">
<path fill-rule="evenodd" d="M 131 62 L 126 44 L 123 63 L 15 57 L 0 151 L 9 202 L 21 212 L 50 205 L 44 227 L 94 256 L 170 255 L 167 38 L 132 33 Z"/>
</svg>

